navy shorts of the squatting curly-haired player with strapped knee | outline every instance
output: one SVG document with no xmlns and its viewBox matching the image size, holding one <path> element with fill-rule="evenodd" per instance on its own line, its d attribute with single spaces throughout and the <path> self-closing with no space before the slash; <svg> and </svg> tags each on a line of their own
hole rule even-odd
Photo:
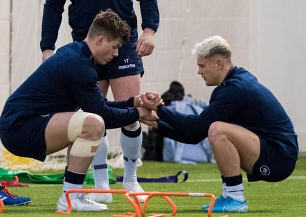
<svg viewBox="0 0 306 217">
<path fill-rule="evenodd" d="M 27 118 L 21 127 L 0 130 L 2 144 L 16 156 L 45 161 L 45 130 L 52 116 L 53 114 Z"/>
</svg>

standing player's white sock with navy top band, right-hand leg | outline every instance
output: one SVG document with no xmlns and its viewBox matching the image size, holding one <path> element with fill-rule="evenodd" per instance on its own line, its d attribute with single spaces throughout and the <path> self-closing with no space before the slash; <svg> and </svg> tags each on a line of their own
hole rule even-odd
<svg viewBox="0 0 306 217">
<path fill-rule="evenodd" d="M 138 127 L 138 128 L 137 128 Z M 137 181 L 137 161 L 142 144 L 141 127 L 135 129 L 121 128 L 121 148 L 124 155 L 124 182 Z"/>
</svg>

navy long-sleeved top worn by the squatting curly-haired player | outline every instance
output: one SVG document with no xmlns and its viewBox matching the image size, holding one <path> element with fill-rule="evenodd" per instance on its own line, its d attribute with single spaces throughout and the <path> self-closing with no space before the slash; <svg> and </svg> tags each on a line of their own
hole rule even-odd
<svg viewBox="0 0 306 217">
<path fill-rule="evenodd" d="M 135 122 L 139 113 L 134 98 L 110 102 L 97 84 L 94 58 L 87 44 L 72 42 L 57 50 L 8 98 L 0 129 L 21 126 L 27 118 L 49 113 L 76 111 L 103 117 L 106 129 Z"/>
</svg>

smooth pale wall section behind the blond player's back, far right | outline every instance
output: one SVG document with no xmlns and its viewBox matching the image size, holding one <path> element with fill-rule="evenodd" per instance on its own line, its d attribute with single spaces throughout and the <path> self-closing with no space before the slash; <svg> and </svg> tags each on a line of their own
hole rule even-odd
<svg viewBox="0 0 306 217">
<path fill-rule="evenodd" d="M 306 151 L 306 2 L 252 1 L 252 72 L 281 101 Z"/>
</svg>

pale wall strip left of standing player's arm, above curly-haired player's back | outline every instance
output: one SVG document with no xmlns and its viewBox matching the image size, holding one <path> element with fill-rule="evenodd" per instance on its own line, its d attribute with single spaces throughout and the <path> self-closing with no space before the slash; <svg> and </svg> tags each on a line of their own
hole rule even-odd
<svg viewBox="0 0 306 217">
<path fill-rule="evenodd" d="M 43 1 L 11 2 L 11 89 L 14 91 L 41 63 L 39 42 Z"/>
</svg>

